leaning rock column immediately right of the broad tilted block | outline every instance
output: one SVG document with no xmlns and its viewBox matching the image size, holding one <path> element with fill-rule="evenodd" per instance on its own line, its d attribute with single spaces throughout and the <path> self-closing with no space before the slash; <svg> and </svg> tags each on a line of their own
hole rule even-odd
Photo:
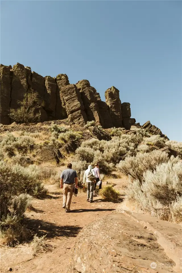
<svg viewBox="0 0 182 273">
<path fill-rule="evenodd" d="M 94 95 L 94 92 L 96 93 L 95 88 L 91 87 L 89 81 L 87 80 L 78 81 L 78 83 L 76 83 L 76 87 L 81 93 L 81 98 L 88 121 L 94 120 L 96 124 L 99 125 L 100 117 L 98 104 Z"/>
</svg>

